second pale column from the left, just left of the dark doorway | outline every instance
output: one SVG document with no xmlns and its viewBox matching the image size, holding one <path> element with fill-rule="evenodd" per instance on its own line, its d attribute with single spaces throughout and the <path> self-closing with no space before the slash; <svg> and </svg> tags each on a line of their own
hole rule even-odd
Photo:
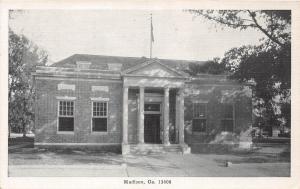
<svg viewBox="0 0 300 189">
<path fill-rule="evenodd" d="M 144 143 L 144 87 L 140 87 L 140 98 L 139 98 L 139 116 L 138 116 L 138 141 L 140 144 Z"/>
</svg>

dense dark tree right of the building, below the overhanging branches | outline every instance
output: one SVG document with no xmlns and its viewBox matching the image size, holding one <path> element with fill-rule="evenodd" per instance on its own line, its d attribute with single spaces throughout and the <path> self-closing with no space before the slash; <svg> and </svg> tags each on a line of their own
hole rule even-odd
<svg viewBox="0 0 300 189">
<path fill-rule="evenodd" d="M 276 120 L 283 118 L 290 127 L 290 114 L 286 113 L 290 107 L 290 47 L 266 48 L 262 44 L 233 48 L 225 53 L 222 62 L 232 72 L 231 78 L 252 83 L 254 108 L 261 109 L 256 116 L 263 116 L 265 125 L 278 125 Z"/>
</svg>

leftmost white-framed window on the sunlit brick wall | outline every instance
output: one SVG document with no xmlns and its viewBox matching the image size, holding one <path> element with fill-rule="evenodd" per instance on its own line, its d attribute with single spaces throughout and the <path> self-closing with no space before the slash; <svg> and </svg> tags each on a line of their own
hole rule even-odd
<svg viewBox="0 0 300 189">
<path fill-rule="evenodd" d="M 59 101 L 58 131 L 74 131 L 73 101 Z"/>
</svg>

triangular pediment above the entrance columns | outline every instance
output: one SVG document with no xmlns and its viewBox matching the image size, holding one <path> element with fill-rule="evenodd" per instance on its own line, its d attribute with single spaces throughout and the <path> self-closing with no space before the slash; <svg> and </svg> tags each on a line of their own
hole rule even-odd
<svg viewBox="0 0 300 189">
<path fill-rule="evenodd" d="M 146 62 L 127 70 L 126 75 L 150 77 L 184 77 L 183 74 L 157 61 Z"/>
</svg>

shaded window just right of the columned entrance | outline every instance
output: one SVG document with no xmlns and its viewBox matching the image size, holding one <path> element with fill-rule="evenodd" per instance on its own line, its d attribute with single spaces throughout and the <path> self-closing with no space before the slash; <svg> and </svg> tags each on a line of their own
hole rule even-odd
<svg viewBox="0 0 300 189">
<path fill-rule="evenodd" d="M 206 104 L 193 104 L 193 131 L 206 132 Z"/>
</svg>

